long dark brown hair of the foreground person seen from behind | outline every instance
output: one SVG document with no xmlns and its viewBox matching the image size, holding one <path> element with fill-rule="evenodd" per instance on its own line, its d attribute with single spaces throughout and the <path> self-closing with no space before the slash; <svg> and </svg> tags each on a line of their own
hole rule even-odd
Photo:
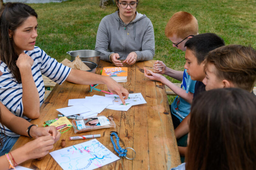
<svg viewBox="0 0 256 170">
<path fill-rule="evenodd" d="M 256 96 L 223 88 L 193 99 L 186 170 L 255 170 Z"/>
</svg>

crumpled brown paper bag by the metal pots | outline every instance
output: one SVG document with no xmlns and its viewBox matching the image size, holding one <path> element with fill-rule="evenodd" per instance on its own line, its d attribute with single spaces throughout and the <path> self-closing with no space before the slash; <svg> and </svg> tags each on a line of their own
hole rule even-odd
<svg viewBox="0 0 256 170">
<path fill-rule="evenodd" d="M 65 58 L 61 62 L 61 64 L 77 70 L 84 70 L 84 71 L 90 70 L 90 68 L 85 63 L 83 63 L 83 61 L 79 58 L 79 56 L 77 56 L 75 60 L 72 62 L 69 61 L 67 58 Z"/>
</svg>

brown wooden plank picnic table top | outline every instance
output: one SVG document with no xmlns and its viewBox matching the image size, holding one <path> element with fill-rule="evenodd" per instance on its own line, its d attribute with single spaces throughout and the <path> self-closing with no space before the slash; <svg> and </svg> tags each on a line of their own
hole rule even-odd
<svg viewBox="0 0 256 170">
<path fill-rule="evenodd" d="M 129 93 L 141 93 L 147 104 L 132 106 L 127 112 L 105 109 L 99 115 L 111 116 L 116 123 L 116 128 L 99 129 L 79 134 L 75 134 L 71 128 L 61 134 L 60 140 L 54 144 L 54 148 L 50 152 L 61 149 L 61 139 L 65 139 L 66 147 L 69 147 L 90 140 L 70 141 L 70 136 L 101 134 L 101 137 L 96 139 L 117 155 L 110 141 L 110 131 L 117 131 L 121 147 L 134 148 L 136 157 L 133 160 L 120 158 L 118 161 L 99 169 L 169 170 L 178 166 L 180 157 L 165 86 L 160 82 L 149 80 L 143 73 L 143 67 L 152 69 L 153 64 L 154 60 L 149 60 L 137 62 L 132 66 L 124 65 L 124 67 L 128 67 L 128 81 L 120 83 Z M 99 74 L 103 67 L 110 66 L 114 65 L 101 60 L 96 73 Z M 106 85 L 98 85 L 97 88 L 108 91 Z M 105 95 L 96 90 L 89 92 L 89 85 L 77 85 L 67 81 L 62 85 L 56 85 L 40 107 L 40 117 L 32 120 L 31 123 L 42 126 L 45 124 L 44 121 L 57 118 L 59 112 L 56 109 L 67 107 L 69 99 L 85 98 L 85 96 L 93 96 L 94 94 Z M 21 136 L 13 149 L 21 147 L 31 140 L 33 139 Z M 128 150 L 128 157 L 133 157 L 131 149 Z M 40 170 L 62 169 L 49 154 L 42 160 L 28 160 L 21 166 Z"/>
</svg>

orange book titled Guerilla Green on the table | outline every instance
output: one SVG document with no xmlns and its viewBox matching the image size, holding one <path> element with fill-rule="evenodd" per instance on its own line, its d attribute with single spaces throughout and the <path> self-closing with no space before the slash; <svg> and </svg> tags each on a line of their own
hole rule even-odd
<svg viewBox="0 0 256 170">
<path fill-rule="evenodd" d="M 128 67 L 103 67 L 102 76 L 109 76 L 116 82 L 127 82 Z"/>
</svg>

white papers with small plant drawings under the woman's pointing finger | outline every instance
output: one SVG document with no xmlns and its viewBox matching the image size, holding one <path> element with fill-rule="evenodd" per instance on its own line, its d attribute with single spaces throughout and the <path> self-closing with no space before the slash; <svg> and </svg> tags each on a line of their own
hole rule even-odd
<svg viewBox="0 0 256 170">
<path fill-rule="evenodd" d="M 119 96 L 116 94 L 105 94 L 113 100 L 113 105 L 108 105 L 107 109 L 127 111 L 131 106 L 147 103 L 141 93 L 129 94 L 128 99 L 125 100 L 126 105 L 123 105 Z"/>
</svg>

